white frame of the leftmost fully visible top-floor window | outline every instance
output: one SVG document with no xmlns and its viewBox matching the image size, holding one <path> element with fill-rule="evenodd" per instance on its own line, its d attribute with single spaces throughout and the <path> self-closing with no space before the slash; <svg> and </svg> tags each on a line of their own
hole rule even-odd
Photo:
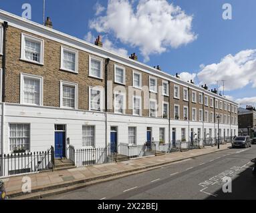
<svg viewBox="0 0 256 213">
<path fill-rule="evenodd" d="M 25 58 L 25 39 L 34 41 L 36 43 L 40 43 L 40 62 L 29 60 Z M 33 37 L 31 35 L 27 35 L 25 33 L 21 33 L 21 60 L 29 61 L 31 63 L 35 63 L 37 65 L 43 65 L 43 52 L 44 52 L 44 41 L 43 39 L 39 39 L 37 37 Z"/>
</svg>

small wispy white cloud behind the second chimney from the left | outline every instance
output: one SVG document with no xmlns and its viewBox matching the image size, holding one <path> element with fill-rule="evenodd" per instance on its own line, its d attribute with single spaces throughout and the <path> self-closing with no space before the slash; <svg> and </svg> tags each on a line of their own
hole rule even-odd
<svg viewBox="0 0 256 213">
<path fill-rule="evenodd" d="M 94 43 L 95 40 L 96 40 L 96 37 L 94 37 L 94 35 L 92 35 L 91 31 L 89 31 L 84 36 L 84 40 L 88 41 L 90 43 Z M 111 51 L 111 52 L 117 53 L 119 55 L 123 55 L 123 56 L 128 57 L 128 51 L 124 48 L 116 47 L 116 45 L 114 45 L 114 43 L 112 43 L 112 41 L 110 41 L 106 35 L 102 36 L 102 43 L 103 43 L 103 48 L 104 49 L 107 49 L 108 51 Z"/>
</svg>

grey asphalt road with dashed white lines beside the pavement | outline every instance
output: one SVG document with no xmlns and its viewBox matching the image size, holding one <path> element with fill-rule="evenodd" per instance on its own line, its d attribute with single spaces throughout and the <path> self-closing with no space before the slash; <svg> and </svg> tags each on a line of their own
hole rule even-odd
<svg viewBox="0 0 256 213">
<path fill-rule="evenodd" d="M 253 158 L 256 158 L 256 145 L 247 149 L 231 148 L 45 199 L 256 199 Z M 223 192 L 223 177 L 232 179 L 232 192 Z"/>
</svg>

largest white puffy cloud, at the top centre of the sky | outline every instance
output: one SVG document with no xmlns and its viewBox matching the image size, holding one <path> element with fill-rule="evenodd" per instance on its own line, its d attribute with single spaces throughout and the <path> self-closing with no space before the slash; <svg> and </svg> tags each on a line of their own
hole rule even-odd
<svg viewBox="0 0 256 213">
<path fill-rule="evenodd" d="M 166 0 L 109 0 L 106 14 L 90 21 L 98 33 L 112 33 L 122 43 L 138 47 L 145 61 L 149 55 L 177 48 L 197 39 L 193 16 Z"/>
</svg>

